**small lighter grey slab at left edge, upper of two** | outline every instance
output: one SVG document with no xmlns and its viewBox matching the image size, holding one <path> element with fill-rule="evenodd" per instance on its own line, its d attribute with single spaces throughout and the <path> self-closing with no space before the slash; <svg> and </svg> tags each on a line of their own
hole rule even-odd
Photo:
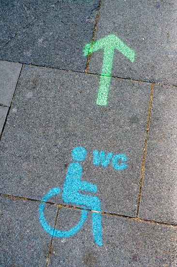
<svg viewBox="0 0 177 267">
<path fill-rule="evenodd" d="M 10 106 L 22 64 L 0 61 L 0 104 Z"/>
</svg>

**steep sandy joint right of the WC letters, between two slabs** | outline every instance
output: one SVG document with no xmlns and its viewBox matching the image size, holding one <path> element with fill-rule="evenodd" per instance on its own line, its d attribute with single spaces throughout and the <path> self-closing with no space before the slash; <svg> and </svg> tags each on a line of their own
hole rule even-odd
<svg viewBox="0 0 177 267">
<path fill-rule="evenodd" d="M 143 174 L 144 174 L 144 169 L 145 169 L 145 159 L 146 159 L 146 150 L 147 150 L 147 143 L 148 143 L 148 131 L 149 131 L 150 113 L 151 113 L 151 107 L 152 107 L 153 89 L 154 89 L 154 83 L 151 84 L 151 90 L 150 90 L 148 119 L 147 119 L 146 133 L 145 133 L 145 144 L 143 148 L 143 159 L 142 159 L 142 167 L 141 167 L 141 178 L 140 178 L 140 183 L 139 183 L 139 194 L 138 194 L 138 200 L 137 200 L 136 218 L 138 218 L 140 200 L 141 200 L 141 191 L 142 191 L 142 185 L 143 185 Z"/>
</svg>

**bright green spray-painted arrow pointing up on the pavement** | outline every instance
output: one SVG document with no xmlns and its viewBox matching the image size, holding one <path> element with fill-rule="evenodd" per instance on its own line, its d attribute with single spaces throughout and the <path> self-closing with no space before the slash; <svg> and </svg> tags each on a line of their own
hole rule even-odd
<svg viewBox="0 0 177 267">
<path fill-rule="evenodd" d="M 84 56 L 100 49 L 103 49 L 103 66 L 96 103 L 97 105 L 105 106 L 107 104 L 109 84 L 111 81 L 114 50 L 117 49 L 132 62 L 134 61 L 135 53 L 115 34 L 109 34 L 96 42 L 86 44 L 83 50 Z"/>
</svg>

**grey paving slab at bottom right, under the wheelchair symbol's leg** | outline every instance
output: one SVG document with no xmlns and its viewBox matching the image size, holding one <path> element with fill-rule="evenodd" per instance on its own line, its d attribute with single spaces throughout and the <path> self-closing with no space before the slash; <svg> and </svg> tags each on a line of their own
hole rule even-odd
<svg viewBox="0 0 177 267">
<path fill-rule="evenodd" d="M 80 219 L 80 211 L 61 208 L 56 229 L 67 231 Z M 175 267 L 177 228 L 102 215 L 103 245 L 94 243 L 89 215 L 80 230 L 54 237 L 48 266 Z"/>
</svg>

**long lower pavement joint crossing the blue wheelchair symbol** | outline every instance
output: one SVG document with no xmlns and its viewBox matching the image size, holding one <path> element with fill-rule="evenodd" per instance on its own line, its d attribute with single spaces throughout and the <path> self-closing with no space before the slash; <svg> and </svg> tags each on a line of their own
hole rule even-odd
<svg viewBox="0 0 177 267">
<path fill-rule="evenodd" d="M 49 204 L 49 205 L 57 205 L 59 208 L 64 207 L 64 208 L 72 208 L 72 209 L 76 209 L 76 210 L 86 210 L 88 212 L 101 213 L 103 215 L 110 215 L 110 216 L 127 218 L 127 219 L 132 219 L 132 220 L 137 220 L 137 221 L 144 221 L 144 222 L 149 222 L 149 223 L 155 223 L 155 224 L 161 224 L 161 225 L 166 225 L 166 226 L 177 227 L 177 224 L 174 224 L 174 223 L 167 223 L 167 222 L 161 222 L 161 221 L 153 221 L 153 220 L 143 219 L 143 218 L 139 218 L 139 217 L 131 217 L 131 216 L 127 216 L 127 215 L 109 213 L 109 212 L 104 212 L 104 211 L 90 210 L 90 209 L 87 209 L 87 208 L 74 207 L 74 206 L 60 204 L 60 203 L 54 203 L 54 202 L 48 202 L 48 201 L 42 201 L 42 200 L 29 199 L 29 198 L 18 197 L 18 196 L 13 196 L 13 195 L 8 195 L 8 194 L 2 194 L 2 193 L 0 193 L 0 196 L 2 196 L 2 197 L 8 197 L 8 198 L 13 198 L 13 199 L 18 199 L 18 200 L 29 200 L 29 201 L 34 201 L 34 202 L 38 202 L 38 203 L 45 203 L 45 204 Z"/>
</svg>

